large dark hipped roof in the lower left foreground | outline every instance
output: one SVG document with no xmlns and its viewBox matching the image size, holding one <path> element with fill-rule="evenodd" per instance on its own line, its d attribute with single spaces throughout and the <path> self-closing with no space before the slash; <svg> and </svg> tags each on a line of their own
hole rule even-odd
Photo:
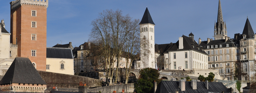
<svg viewBox="0 0 256 93">
<path fill-rule="evenodd" d="M 16 57 L 0 81 L 0 84 L 26 83 L 46 84 L 29 58 Z"/>
</svg>

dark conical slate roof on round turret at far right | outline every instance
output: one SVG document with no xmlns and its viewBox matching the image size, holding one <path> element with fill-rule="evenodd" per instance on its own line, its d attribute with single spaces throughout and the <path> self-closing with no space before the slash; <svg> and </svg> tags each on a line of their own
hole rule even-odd
<svg viewBox="0 0 256 93">
<path fill-rule="evenodd" d="M 247 39 L 254 39 L 253 38 L 253 35 L 255 34 L 252 30 L 252 26 L 250 24 L 250 21 L 249 19 L 247 18 L 246 19 L 246 22 L 245 22 L 245 27 L 243 28 L 243 33 L 242 35 L 245 34 L 246 35 L 246 38 Z"/>
</svg>

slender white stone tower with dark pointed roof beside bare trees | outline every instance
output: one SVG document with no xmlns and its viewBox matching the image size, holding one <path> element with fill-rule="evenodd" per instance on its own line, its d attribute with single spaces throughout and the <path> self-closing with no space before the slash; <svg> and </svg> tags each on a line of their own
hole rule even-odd
<svg viewBox="0 0 256 93">
<path fill-rule="evenodd" d="M 141 38 L 143 39 L 141 40 L 141 44 L 143 45 L 141 45 L 141 61 L 139 68 L 150 67 L 155 69 L 155 24 L 150 16 L 148 8 L 146 8 L 139 25 L 141 29 Z"/>
</svg>

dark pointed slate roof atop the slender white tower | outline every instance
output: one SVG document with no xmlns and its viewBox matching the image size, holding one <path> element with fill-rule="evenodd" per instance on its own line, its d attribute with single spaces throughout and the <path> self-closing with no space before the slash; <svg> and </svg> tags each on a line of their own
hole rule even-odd
<svg viewBox="0 0 256 93">
<path fill-rule="evenodd" d="M 150 24 L 154 24 L 155 23 L 153 22 L 152 18 L 151 18 L 151 15 L 148 11 L 148 8 L 146 8 L 145 12 L 144 12 L 144 15 L 141 19 L 141 22 L 139 24 L 147 24 L 147 23 L 150 23 Z"/>
</svg>

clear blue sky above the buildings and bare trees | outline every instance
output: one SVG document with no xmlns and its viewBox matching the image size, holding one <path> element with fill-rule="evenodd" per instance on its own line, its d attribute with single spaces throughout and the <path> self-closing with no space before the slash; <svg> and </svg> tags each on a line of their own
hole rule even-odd
<svg viewBox="0 0 256 93">
<path fill-rule="evenodd" d="M 0 0 L 0 19 L 10 32 L 10 2 Z M 221 0 L 223 20 L 230 38 L 242 33 L 248 15 L 256 32 L 255 0 Z M 88 41 L 91 21 L 106 9 L 123 11 L 140 19 L 148 7 L 155 26 L 155 43 L 177 42 L 178 37 L 192 32 L 194 39 L 206 41 L 213 38 L 214 21 L 217 20 L 218 0 L 49 0 L 47 8 L 47 47 L 57 43 L 79 46 Z"/>
</svg>

